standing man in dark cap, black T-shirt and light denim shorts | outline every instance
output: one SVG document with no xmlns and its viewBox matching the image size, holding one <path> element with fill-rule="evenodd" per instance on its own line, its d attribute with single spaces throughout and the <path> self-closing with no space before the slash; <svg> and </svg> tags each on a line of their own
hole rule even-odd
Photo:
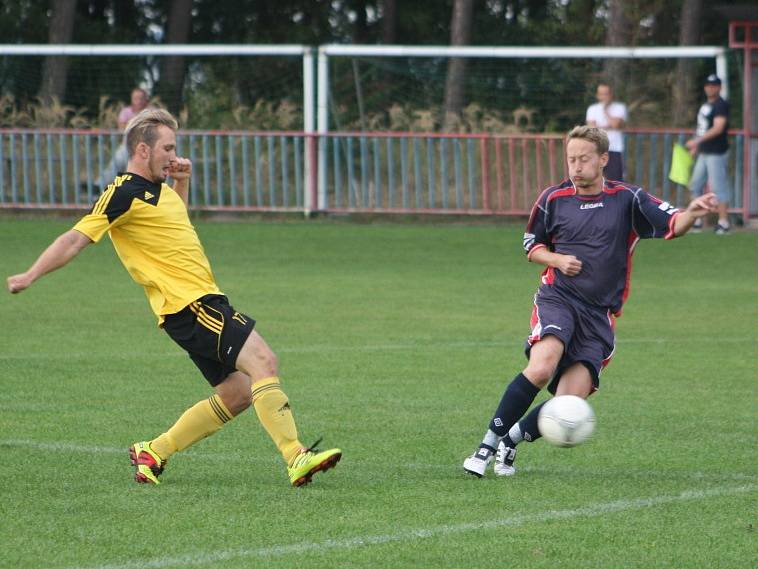
<svg viewBox="0 0 758 569">
<path fill-rule="evenodd" d="M 687 141 L 687 148 L 697 156 L 690 180 L 690 192 L 699 196 L 708 182 L 711 191 L 718 198 L 719 220 L 716 233 L 725 235 L 729 232 L 729 177 L 726 167 L 728 161 L 729 139 L 729 103 L 721 98 L 721 79 L 718 75 L 709 75 L 705 80 L 706 102 L 697 113 L 695 136 Z M 698 221 L 702 222 L 702 218 Z M 695 229 L 701 228 L 695 225 Z"/>
</svg>

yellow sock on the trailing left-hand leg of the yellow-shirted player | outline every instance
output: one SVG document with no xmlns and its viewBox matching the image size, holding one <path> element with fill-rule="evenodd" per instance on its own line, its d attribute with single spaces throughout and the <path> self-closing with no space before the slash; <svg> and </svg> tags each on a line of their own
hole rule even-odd
<svg viewBox="0 0 758 569">
<path fill-rule="evenodd" d="M 166 460 L 176 451 L 212 435 L 231 419 L 229 409 L 214 394 L 187 409 L 173 427 L 150 442 L 150 447 Z"/>
</svg>

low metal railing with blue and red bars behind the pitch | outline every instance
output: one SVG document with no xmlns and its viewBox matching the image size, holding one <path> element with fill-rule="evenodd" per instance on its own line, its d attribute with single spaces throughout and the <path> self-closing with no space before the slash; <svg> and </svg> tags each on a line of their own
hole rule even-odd
<svg viewBox="0 0 758 569">
<path fill-rule="evenodd" d="M 691 135 L 628 130 L 626 179 L 686 203 L 686 189 L 668 172 L 673 144 Z M 95 180 L 121 140 L 115 130 L 0 129 L 0 208 L 88 208 L 102 189 Z M 744 133 L 731 131 L 730 142 L 732 212 L 747 218 Z M 193 163 L 194 208 L 305 214 L 526 215 L 542 189 L 565 178 L 563 145 L 563 136 L 552 134 L 180 131 L 177 137 L 178 153 Z M 322 172 L 317 161 L 307 162 L 317 146 L 326 157 Z M 318 180 L 326 191 L 317 199 Z"/>
</svg>

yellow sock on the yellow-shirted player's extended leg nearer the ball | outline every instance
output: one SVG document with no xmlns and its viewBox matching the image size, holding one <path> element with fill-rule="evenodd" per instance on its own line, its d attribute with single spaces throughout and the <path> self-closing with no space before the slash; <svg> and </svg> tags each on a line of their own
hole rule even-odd
<svg viewBox="0 0 758 569">
<path fill-rule="evenodd" d="M 289 465 L 303 445 L 297 439 L 295 419 L 278 377 L 268 377 L 253 384 L 253 406 L 261 424 Z"/>
</svg>

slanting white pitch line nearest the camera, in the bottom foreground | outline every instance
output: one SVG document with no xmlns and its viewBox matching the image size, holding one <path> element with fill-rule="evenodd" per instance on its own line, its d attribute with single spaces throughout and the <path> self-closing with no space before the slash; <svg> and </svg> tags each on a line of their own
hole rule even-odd
<svg viewBox="0 0 758 569">
<path fill-rule="evenodd" d="M 652 506 L 661 506 L 688 500 L 704 500 L 718 496 L 733 496 L 758 491 L 758 485 L 736 486 L 733 488 L 714 488 L 710 490 L 685 490 L 669 496 L 654 496 L 652 498 L 637 498 L 634 500 L 616 500 L 592 504 L 573 510 L 546 510 L 532 514 L 519 514 L 498 520 L 486 522 L 468 522 L 462 524 L 443 525 L 430 528 L 409 529 L 403 533 L 356 536 L 346 539 L 328 539 L 324 541 L 305 541 L 288 545 L 272 545 L 260 548 L 238 548 L 212 553 L 198 552 L 177 557 L 159 557 L 153 559 L 138 559 L 126 563 L 95 565 L 89 569 L 164 569 L 165 567 L 188 567 L 191 565 L 215 564 L 230 559 L 255 557 L 282 557 L 290 554 L 322 552 L 334 549 L 355 549 L 372 545 L 428 539 L 467 531 L 491 530 L 501 527 L 520 526 L 528 523 L 541 523 L 552 520 L 566 520 L 580 517 L 595 517 L 613 514 L 627 510 L 638 510 Z M 73 567 L 67 569 L 74 569 Z M 81 569 L 81 568 L 77 568 Z"/>
</svg>

